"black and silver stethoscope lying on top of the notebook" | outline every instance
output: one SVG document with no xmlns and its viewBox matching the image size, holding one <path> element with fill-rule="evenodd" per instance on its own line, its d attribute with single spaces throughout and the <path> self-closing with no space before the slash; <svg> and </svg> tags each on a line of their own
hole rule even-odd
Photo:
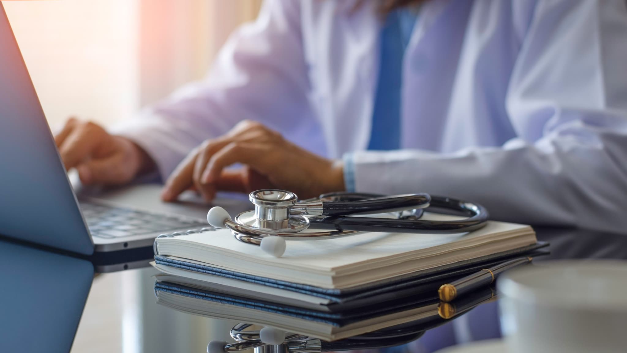
<svg viewBox="0 0 627 353">
<path fill-rule="evenodd" d="M 222 207 L 213 207 L 207 220 L 213 227 L 231 229 L 239 241 L 261 246 L 275 257 L 285 252 L 286 240 L 330 239 L 357 232 L 460 233 L 479 229 L 488 219 L 488 212 L 481 205 L 426 193 L 394 196 L 330 193 L 297 202 L 292 192 L 264 189 L 251 192 L 249 198 L 255 210 L 242 212 L 231 220 Z M 420 219 L 426 207 L 467 218 Z M 398 217 L 353 216 L 389 212 L 398 212 Z M 303 232 L 308 228 L 326 231 Z"/>
</svg>

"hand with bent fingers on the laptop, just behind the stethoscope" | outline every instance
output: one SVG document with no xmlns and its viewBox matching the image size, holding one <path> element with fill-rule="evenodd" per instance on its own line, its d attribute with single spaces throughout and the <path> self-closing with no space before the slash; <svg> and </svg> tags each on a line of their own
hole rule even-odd
<svg viewBox="0 0 627 353">
<path fill-rule="evenodd" d="M 224 170 L 236 163 L 243 168 Z M 191 151 L 168 178 L 162 198 L 174 201 L 188 188 L 208 202 L 217 191 L 280 188 L 310 198 L 345 190 L 341 161 L 314 155 L 255 121 L 242 121 Z"/>
</svg>

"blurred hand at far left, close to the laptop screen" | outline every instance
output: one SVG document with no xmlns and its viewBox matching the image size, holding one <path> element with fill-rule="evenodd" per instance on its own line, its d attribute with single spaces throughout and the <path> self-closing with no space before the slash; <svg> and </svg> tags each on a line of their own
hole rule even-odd
<svg viewBox="0 0 627 353">
<path fill-rule="evenodd" d="M 137 144 L 108 134 L 93 122 L 68 119 L 55 143 L 65 169 L 76 168 L 85 185 L 120 185 L 154 168 L 152 159 Z"/>
</svg>

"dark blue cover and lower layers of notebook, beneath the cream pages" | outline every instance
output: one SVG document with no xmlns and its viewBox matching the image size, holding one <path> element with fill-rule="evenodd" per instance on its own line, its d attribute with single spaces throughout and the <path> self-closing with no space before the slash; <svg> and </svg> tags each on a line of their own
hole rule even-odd
<svg viewBox="0 0 627 353">
<path fill-rule="evenodd" d="M 491 254 L 485 259 L 441 266 L 403 278 L 345 290 L 329 290 L 271 280 L 260 276 L 250 276 L 245 273 L 234 273 L 233 271 L 212 268 L 206 264 L 187 263 L 161 255 L 155 256 L 155 261 L 151 264 L 161 271 L 161 274 L 155 276 L 159 281 L 255 300 L 280 302 L 312 310 L 342 312 L 364 305 L 398 300 L 407 296 L 416 298 L 434 295 L 444 283 L 458 280 L 483 268 L 490 268 L 512 258 L 520 258 L 520 256 L 537 258 L 549 254 L 548 251 L 539 249 L 547 245 L 545 242 L 538 242 L 532 246 L 525 246 L 513 251 Z"/>
</svg>

